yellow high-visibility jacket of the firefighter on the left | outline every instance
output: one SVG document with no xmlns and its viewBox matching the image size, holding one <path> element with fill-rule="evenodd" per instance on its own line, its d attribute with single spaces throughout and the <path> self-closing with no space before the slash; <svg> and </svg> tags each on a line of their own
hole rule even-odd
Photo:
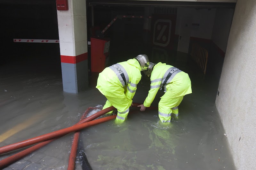
<svg viewBox="0 0 256 170">
<path fill-rule="evenodd" d="M 141 79 L 140 71 L 140 63 L 136 59 L 113 64 L 99 74 L 96 88 L 104 96 L 117 98 L 126 96 L 132 100 Z"/>
</svg>

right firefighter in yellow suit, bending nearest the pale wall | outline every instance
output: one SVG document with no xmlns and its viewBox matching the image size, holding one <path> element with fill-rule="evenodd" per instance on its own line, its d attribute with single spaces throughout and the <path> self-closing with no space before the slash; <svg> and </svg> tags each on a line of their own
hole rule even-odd
<svg viewBox="0 0 256 170">
<path fill-rule="evenodd" d="M 191 81 L 187 73 L 165 63 L 149 63 L 146 74 L 150 75 L 150 90 L 144 103 L 139 105 L 144 111 L 151 105 L 157 91 L 164 89 L 165 94 L 158 103 L 158 116 L 161 122 L 171 122 L 172 113 L 178 117 L 183 96 L 192 93 Z"/>
</svg>

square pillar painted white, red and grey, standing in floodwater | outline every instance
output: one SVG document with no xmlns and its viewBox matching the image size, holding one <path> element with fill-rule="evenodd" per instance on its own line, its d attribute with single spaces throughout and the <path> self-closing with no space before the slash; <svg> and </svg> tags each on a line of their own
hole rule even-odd
<svg viewBox="0 0 256 170">
<path fill-rule="evenodd" d="M 68 11 L 58 11 L 63 91 L 78 93 L 88 87 L 85 0 L 68 0 Z"/>
</svg>

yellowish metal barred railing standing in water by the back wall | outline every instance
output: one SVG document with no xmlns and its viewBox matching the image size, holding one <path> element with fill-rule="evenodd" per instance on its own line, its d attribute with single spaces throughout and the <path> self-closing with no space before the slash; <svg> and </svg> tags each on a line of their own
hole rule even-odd
<svg viewBox="0 0 256 170">
<path fill-rule="evenodd" d="M 208 61 L 208 51 L 202 46 L 193 43 L 190 55 L 192 59 L 196 61 L 196 64 L 202 69 L 205 75 Z"/>
</svg>

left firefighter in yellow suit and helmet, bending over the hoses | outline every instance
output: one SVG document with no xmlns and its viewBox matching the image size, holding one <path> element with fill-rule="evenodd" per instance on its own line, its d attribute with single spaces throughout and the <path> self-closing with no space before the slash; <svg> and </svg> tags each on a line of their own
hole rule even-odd
<svg viewBox="0 0 256 170">
<path fill-rule="evenodd" d="M 141 79 L 140 71 L 147 70 L 148 66 L 148 56 L 142 54 L 134 59 L 113 64 L 99 74 L 96 88 L 107 98 L 103 109 L 114 106 L 117 109 L 116 120 L 124 121 L 127 118 L 137 84 Z"/>
</svg>

